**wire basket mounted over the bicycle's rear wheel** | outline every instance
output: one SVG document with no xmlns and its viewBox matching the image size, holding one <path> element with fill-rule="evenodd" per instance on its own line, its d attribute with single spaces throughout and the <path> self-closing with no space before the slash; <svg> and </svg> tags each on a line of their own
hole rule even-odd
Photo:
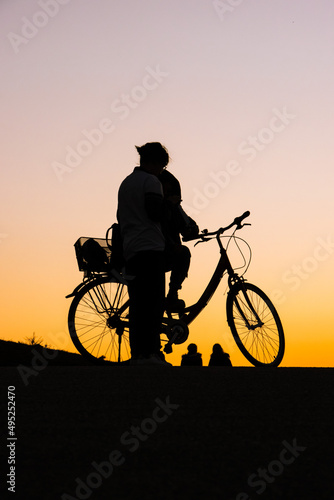
<svg viewBox="0 0 334 500">
<path fill-rule="evenodd" d="M 104 238 L 81 237 L 74 248 L 79 271 L 101 273 L 110 269 L 111 250 Z"/>
</svg>

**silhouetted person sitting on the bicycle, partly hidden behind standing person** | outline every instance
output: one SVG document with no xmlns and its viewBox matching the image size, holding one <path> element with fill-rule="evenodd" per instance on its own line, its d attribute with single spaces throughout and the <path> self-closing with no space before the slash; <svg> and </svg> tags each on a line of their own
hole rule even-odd
<svg viewBox="0 0 334 500">
<path fill-rule="evenodd" d="M 191 258 L 189 248 L 182 245 L 180 234 L 185 239 L 190 239 L 197 236 L 199 229 L 196 222 L 181 207 L 181 186 L 176 177 L 163 170 L 158 178 L 164 193 L 162 230 L 166 240 L 166 272 L 171 271 L 166 309 L 180 313 L 185 303 L 179 299 L 178 291 L 188 276 Z"/>
</svg>

